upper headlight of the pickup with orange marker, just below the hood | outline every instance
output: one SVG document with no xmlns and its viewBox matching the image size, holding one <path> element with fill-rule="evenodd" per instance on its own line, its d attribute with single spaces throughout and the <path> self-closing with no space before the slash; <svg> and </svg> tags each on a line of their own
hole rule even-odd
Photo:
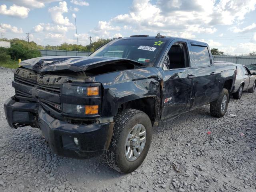
<svg viewBox="0 0 256 192">
<path fill-rule="evenodd" d="M 62 94 L 72 96 L 98 96 L 99 87 L 82 87 L 63 84 Z"/>
</svg>

